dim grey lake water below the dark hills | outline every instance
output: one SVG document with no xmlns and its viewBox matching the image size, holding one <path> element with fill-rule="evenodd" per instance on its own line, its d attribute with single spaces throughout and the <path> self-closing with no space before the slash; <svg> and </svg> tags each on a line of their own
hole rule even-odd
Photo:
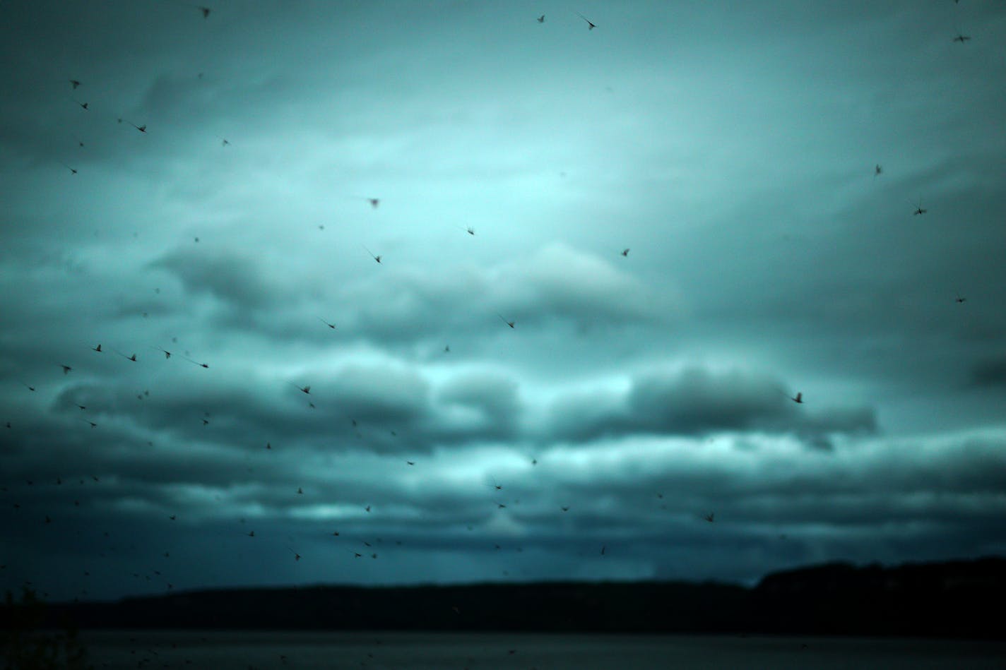
<svg viewBox="0 0 1006 670">
<path fill-rule="evenodd" d="M 1006 642 L 738 636 L 86 631 L 97 669 L 1006 668 Z M 139 666 L 138 666 L 139 664 Z"/>
</svg>

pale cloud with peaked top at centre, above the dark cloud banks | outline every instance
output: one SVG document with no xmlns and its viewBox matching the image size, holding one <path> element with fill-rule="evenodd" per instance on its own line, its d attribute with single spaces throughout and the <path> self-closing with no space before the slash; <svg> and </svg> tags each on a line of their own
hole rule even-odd
<svg viewBox="0 0 1006 670">
<path fill-rule="evenodd" d="M 673 287 L 657 294 L 626 270 L 583 250 L 552 242 L 516 261 L 489 266 L 395 267 L 356 280 L 339 292 L 355 305 L 348 323 L 381 338 L 418 338 L 498 328 L 497 313 L 519 327 L 552 322 L 624 327 L 674 316 Z"/>
</svg>

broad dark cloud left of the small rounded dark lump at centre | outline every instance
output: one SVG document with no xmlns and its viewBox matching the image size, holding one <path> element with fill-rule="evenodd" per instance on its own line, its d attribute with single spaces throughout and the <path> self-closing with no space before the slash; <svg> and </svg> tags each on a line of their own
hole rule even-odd
<svg viewBox="0 0 1006 670">
<path fill-rule="evenodd" d="M 411 380 L 418 385 L 409 388 L 407 376 L 385 368 L 336 370 L 335 382 L 316 381 L 308 396 L 295 387 L 311 386 L 308 381 L 276 376 L 267 383 L 249 385 L 232 369 L 226 371 L 225 380 L 214 378 L 210 375 L 217 369 L 215 364 L 203 370 L 181 355 L 176 352 L 171 360 L 164 360 L 163 355 L 148 353 L 148 364 L 175 368 L 161 372 L 161 383 L 174 382 L 165 384 L 163 390 L 155 385 L 150 395 L 145 395 L 149 389 L 136 383 L 79 385 L 66 389 L 59 405 L 71 412 L 76 404 L 82 404 L 96 423 L 130 426 L 149 440 L 171 444 L 191 441 L 241 451 L 264 448 L 270 441 L 300 448 L 344 449 L 354 436 L 351 420 L 358 418 L 361 430 L 367 432 L 374 430 L 375 422 L 382 427 L 402 424 L 407 428 L 418 421 L 425 408 L 426 391 L 421 382 Z M 200 375 L 204 378 L 199 379 Z M 340 395 L 340 383 L 354 383 L 352 388 L 358 392 Z M 382 389 L 394 392 L 384 394 Z M 309 403 L 315 400 L 316 408 L 311 408 Z M 391 444 L 382 440 L 374 447 L 390 448 Z"/>
</svg>

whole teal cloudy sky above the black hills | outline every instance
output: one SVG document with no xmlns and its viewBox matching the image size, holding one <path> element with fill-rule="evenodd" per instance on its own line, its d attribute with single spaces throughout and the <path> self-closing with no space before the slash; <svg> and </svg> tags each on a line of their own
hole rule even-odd
<svg viewBox="0 0 1006 670">
<path fill-rule="evenodd" d="M 1006 5 L 206 2 L 0 8 L 0 589 L 1006 553 Z"/>
</svg>

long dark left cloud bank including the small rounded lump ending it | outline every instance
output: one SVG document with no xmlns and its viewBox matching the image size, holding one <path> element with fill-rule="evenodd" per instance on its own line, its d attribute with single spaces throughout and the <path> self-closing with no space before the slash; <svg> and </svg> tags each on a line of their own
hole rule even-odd
<svg viewBox="0 0 1006 670">
<path fill-rule="evenodd" d="M 205 444 L 241 454 L 271 443 L 283 445 L 285 454 L 414 455 L 516 437 L 523 418 L 516 382 L 490 371 L 462 373 L 435 386 L 407 368 L 357 363 L 269 380 L 253 374 L 257 383 L 249 385 L 238 370 L 218 372 L 215 363 L 201 369 L 182 356 L 177 350 L 171 359 L 141 352 L 142 364 L 158 370 L 153 384 L 149 379 L 64 382 L 52 400 L 60 416 L 51 421 L 59 423 L 46 439 L 58 442 L 58 431 L 71 420 L 80 422 L 77 429 L 87 429 L 88 421 L 99 424 L 105 432 L 98 441 L 109 440 L 109 431 L 121 431 L 137 444 Z M 33 430 L 42 426 L 35 420 Z M 76 433 L 85 442 L 95 438 Z M 162 468 L 156 472 L 176 475 Z"/>
</svg>

